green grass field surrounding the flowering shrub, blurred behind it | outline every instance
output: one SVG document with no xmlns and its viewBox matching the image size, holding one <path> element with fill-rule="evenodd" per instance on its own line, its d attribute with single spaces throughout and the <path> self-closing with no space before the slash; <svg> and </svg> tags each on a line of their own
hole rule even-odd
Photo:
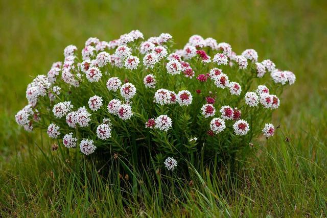
<svg viewBox="0 0 327 218">
<path fill-rule="evenodd" d="M 0 11 L 0 216 L 327 216 L 325 1 L 2 0 Z M 274 113 L 281 128 L 269 143 L 255 144 L 237 177 L 228 166 L 214 178 L 194 171 L 175 186 L 140 181 L 135 195 L 91 164 L 72 171 L 44 134 L 15 124 L 31 77 L 63 60 L 66 45 L 133 29 L 146 37 L 168 32 L 180 46 L 193 34 L 213 37 L 295 73 Z"/>
</svg>

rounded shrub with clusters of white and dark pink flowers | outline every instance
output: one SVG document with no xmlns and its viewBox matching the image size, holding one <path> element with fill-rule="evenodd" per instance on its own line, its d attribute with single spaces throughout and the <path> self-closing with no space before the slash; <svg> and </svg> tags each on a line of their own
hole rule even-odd
<svg viewBox="0 0 327 218">
<path fill-rule="evenodd" d="M 181 50 L 172 45 L 170 34 L 144 40 L 137 30 L 109 42 L 89 38 L 81 55 L 68 45 L 64 61 L 28 85 L 17 124 L 46 129 L 85 156 L 155 160 L 169 171 L 194 157 L 235 159 L 274 134 L 271 114 L 283 87 L 295 82 L 292 72 L 213 38 L 191 36 Z"/>
</svg>

